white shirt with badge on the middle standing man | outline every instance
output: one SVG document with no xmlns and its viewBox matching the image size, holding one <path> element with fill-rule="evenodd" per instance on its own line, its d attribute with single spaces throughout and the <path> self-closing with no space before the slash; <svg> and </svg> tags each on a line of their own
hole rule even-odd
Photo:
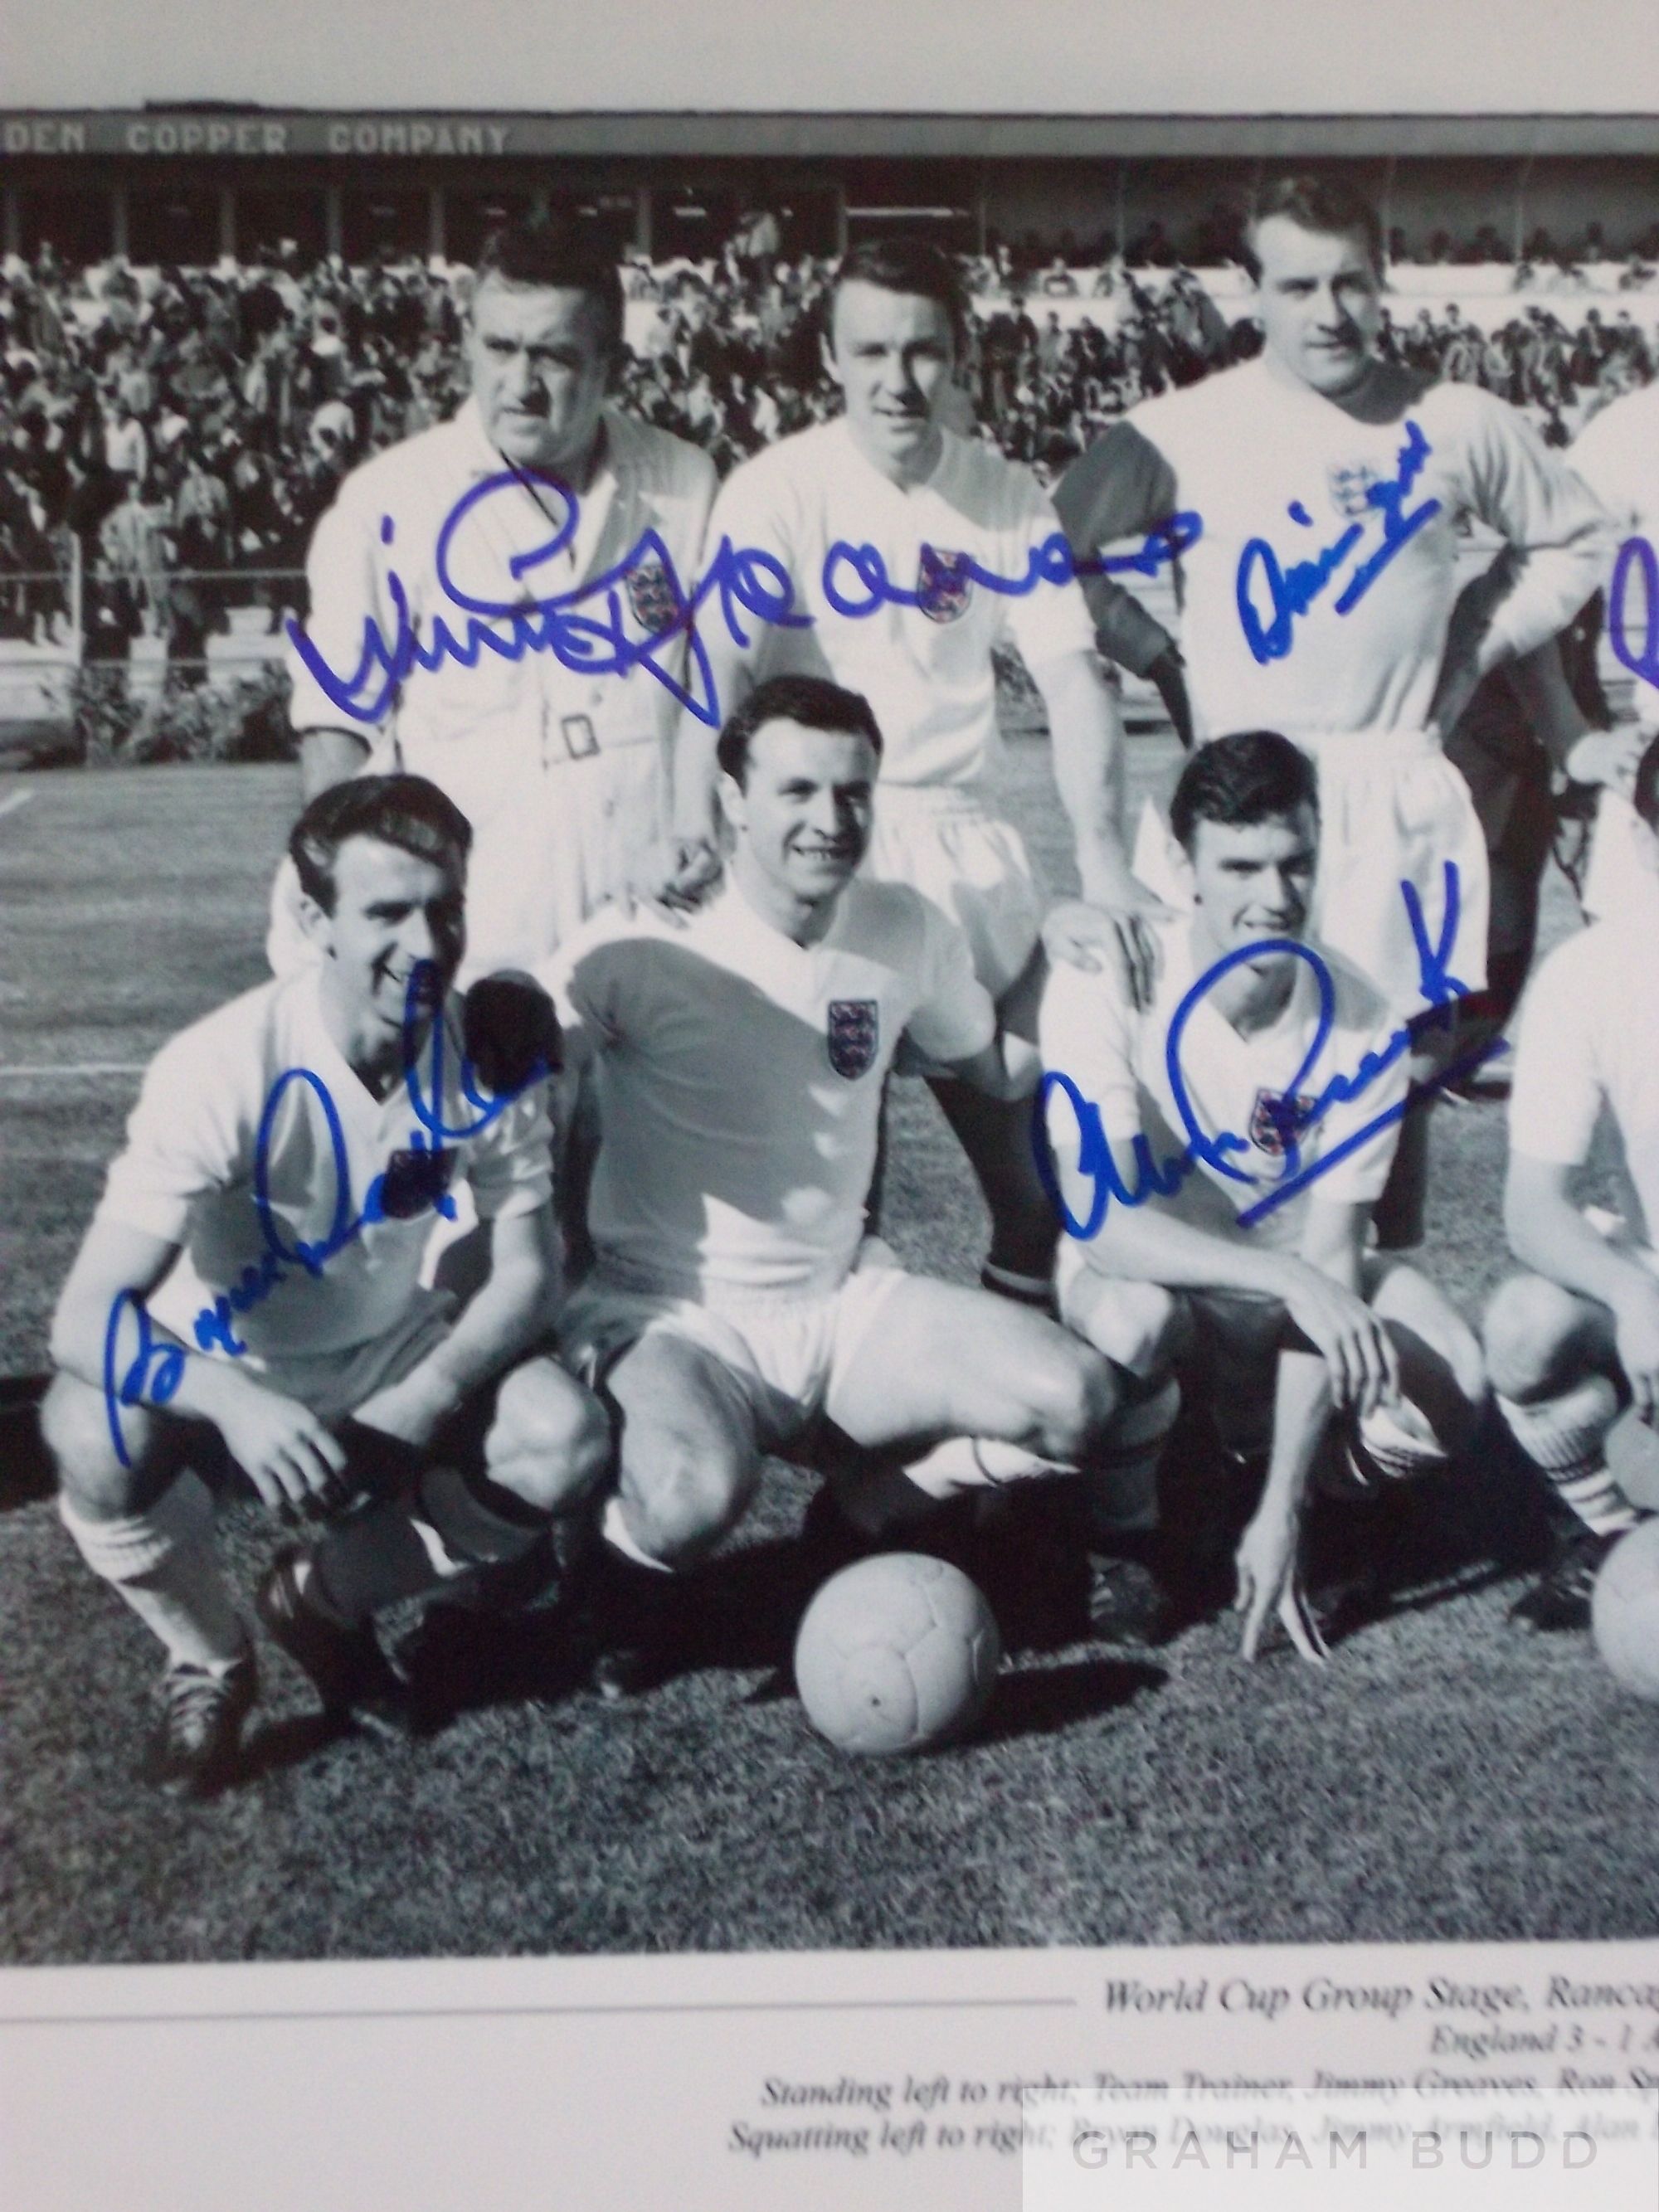
<svg viewBox="0 0 1659 2212">
<path fill-rule="evenodd" d="M 1029 591 L 1004 593 L 956 573 L 969 555 L 984 575 L 1020 586 L 1033 575 L 1033 553 L 1055 538 L 1053 551 L 1064 551 L 1064 535 L 1029 469 L 980 438 L 940 436 L 929 480 L 900 487 L 865 460 L 845 416 L 796 431 L 732 471 L 708 526 L 710 560 L 721 540 L 737 551 L 759 546 L 783 562 L 796 611 L 812 615 L 805 630 L 743 617 L 757 681 L 805 672 L 863 692 L 883 734 L 883 783 L 991 774 L 995 644 L 1015 644 L 1033 670 L 1095 646 L 1075 580 L 1037 575 Z M 849 551 L 832 557 L 836 546 Z M 927 604 L 878 604 L 856 566 L 863 549 L 894 586 Z M 710 606 L 701 622 L 712 619 Z"/>
</svg>

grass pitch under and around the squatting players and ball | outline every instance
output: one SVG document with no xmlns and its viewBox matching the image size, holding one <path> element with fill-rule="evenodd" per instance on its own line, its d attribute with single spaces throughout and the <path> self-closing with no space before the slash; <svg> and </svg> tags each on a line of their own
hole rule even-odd
<svg viewBox="0 0 1659 2212">
<path fill-rule="evenodd" d="M 1139 790 L 1172 743 L 1137 739 Z M 0 779 L 0 1374 L 51 1301 L 137 1068 L 263 975 L 292 770 Z M 1046 752 L 1009 805 L 1053 880 Z M 1551 929 L 1571 920 L 1559 885 Z M 1440 1108 L 1425 1263 L 1467 1305 L 1504 1270 L 1502 1108 Z M 887 1232 L 967 1279 L 984 1225 L 927 1093 L 896 1088 Z M 1015 1652 L 987 1732 L 854 1763 L 787 1690 L 790 1537 L 770 1471 L 690 1593 L 699 1663 L 635 1710 L 562 1681 L 538 1615 L 425 1743 L 323 1741 L 263 1650 L 250 1774 L 179 1809 L 131 1778 L 157 1652 L 42 1500 L 0 1511 L 0 1955 L 11 1962 L 816 1949 L 836 1944 L 1610 1938 L 1659 1924 L 1659 1710 L 1586 1637 L 1504 1624 L 1540 1520 L 1500 1442 L 1409 1495 L 1385 1588 L 1323 1674 L 1237 1659 L 1230 1619 L 1126 1655 Z M 2 1493 L 0 1493 L 2 1495 Z M 1349 1533 L 1352 1535 L 1352 1533 Z M 1338 1542 L 1345 1533 L 1336 1531 Z M 226 1513 L 243 1590 L 274 1531 Z"/>
</svg>

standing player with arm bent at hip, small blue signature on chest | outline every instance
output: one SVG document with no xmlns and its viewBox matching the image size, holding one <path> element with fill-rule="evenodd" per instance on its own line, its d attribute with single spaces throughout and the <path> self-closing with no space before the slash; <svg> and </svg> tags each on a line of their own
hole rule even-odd
<svg viewBox="0 0 1659 2212">
<path fill-rule="evenodd" d="M 1489 668 L 1597 588 L 1606 518 L 1504 400 L 1378 354 L 1383 232 L 1349 186 L 1267 184 L 1245 261 L 1261 358 L 1135 407 L 1055 500 L 1079 557 L 1199 518 L 1181 624 L 1197 737 L 1283 730 L 1316 759 L 1314 927 L 1394 1006 L 1433 1011 L 1480 989 L 1486 956 L 1484 838 L 1442 737 Z M 1464 515 L 1509 553 L 1460 591 Z M 1431 1064 L 1425 1040 L 1416 1071 Z M 1422 1234 L 1422 1128 L 1407 1121 L 1378 1210 L 1391 1245 Z"/>
</svg>

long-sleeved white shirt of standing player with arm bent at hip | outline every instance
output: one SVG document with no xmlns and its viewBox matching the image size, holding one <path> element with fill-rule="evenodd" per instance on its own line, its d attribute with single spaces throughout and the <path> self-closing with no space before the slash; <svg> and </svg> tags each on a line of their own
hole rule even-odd
<svg viewBox="0 0 1659 2212">
<path fill-rule="evenodd" d="M 1128 504 L 1106 500 L 1113 471 L 1135 484 Z M 1389 487 L 1391 553 L 1374 500 Z M 1422 730 L 1460 591 L 1462 515 L 1526 555 L 1493 617 L 1513 653 L 1564 628 L 1610 557 L 1586 487 L 1489 392 L 1431 385 L 1394 420 L 1360 422 L 1270 356 L 1130 409 L 1066 471 L 1060 507 L 1079 551 L 1095 551 L 1095 507 L 1137 533 L 1175 511 L 1201 518 L 1181 555 L 1199 737 Z M 1301 613 L 1285 613 L 1292 599 Z"/>
</svg>

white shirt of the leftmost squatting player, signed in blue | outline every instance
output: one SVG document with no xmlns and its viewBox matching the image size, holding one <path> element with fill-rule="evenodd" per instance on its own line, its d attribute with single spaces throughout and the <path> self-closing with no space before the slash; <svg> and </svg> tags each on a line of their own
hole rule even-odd
<svg viewBox="0 0 1659 2212">
<path fill-rule="evenodd" d="M 458 1000 L 427 1040 L 416 1088 L 425 1119 L 405 1084 L 385 1099 L 365 1091 L 327 1033 L 316 969 L 164 1044 L 97 1208 L 181 1248 L 148 1301 L 155 1318 L 195 1349 L 228 1352 L 234 1338 L 261 1358 L 374 1343 L 416 1294 L 438 1197 L 465 1179 L 484 1221 L 549 1201 L 544 1086 L 480 1128 L 460 1091 Z"/>
</svg>

